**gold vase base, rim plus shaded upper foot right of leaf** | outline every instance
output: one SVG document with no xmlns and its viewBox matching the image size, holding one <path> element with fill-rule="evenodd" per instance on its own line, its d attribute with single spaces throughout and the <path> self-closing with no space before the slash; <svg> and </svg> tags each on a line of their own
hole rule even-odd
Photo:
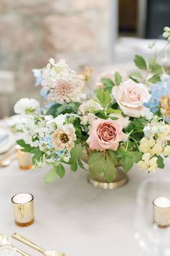
<svg viewBox="0 0 170 256">
<path fill-rule="evenodd" d="M 100 189 L 117 189 L 118 187 L 122 187 L 128 182 L 128 176 L 120 168 L 117 169 L 117 176 L 113 182 L 103 182 L 97 179 L 91 179 L 89 176 L 88 181 L 91 185 Z"/>
</svg>

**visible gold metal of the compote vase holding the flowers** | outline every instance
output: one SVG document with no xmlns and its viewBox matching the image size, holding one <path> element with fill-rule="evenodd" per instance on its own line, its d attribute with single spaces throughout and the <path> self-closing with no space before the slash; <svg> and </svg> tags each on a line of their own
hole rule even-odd
<svg viewBox="0 0 170 256">
<path fill-rule="evenodd" d="M 81 160 L 84 163 L 88 163 L 89 161 L 89 151 L 87 148 L 84 148 L 83 153 L 81 155 Z M 125 174 L 125 171 L 122 170 L 122 167 L 119 163 L 115 166 L 117 168 L 117 174 L 115 179 L 112 182 L 107 182 L 104 177 L 104 174 L 99 174 L 97 178 L 91 178 L 88 176 L 88 181 L 94 187 L 99 187 L 101 189 L 117 189 L 118 187 L 124 186 L 128 182 L 128 175 Z"/>
</svg>

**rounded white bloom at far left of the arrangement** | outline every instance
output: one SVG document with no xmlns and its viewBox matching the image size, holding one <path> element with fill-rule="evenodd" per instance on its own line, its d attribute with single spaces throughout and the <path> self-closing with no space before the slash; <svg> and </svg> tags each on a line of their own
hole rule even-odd
<svg viewBox="0 0 170 256">
<path fill-rule="evenodd" d="M 14 105 L 16 114 L 38 114 L 40 111 L 40 103 L 34 98 L 22 98 Z"/>
</svg>

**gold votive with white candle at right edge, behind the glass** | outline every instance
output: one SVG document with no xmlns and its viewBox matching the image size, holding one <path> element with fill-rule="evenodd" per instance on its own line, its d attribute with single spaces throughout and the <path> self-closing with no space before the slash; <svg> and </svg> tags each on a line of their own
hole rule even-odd
<svg viewBox="0 0 170 256">
<path fill-rule="evenodd" d="M 166 197 L 156 197 L 153 200 L 153 222 L 159 228 L 170 226 L 170 200 Z"/>
</svg>

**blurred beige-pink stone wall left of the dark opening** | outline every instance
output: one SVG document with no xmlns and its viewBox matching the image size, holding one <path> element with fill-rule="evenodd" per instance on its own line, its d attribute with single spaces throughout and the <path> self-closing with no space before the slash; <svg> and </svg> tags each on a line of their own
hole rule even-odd
<svg viewBox="0 0 170 256">
<path fill-rule="evenodd" d="M 109 1 L 0 0 L 0 69 L 14 72 L 14 101 L 35 95 L 31 70 L 50 57 L 76 69 L 107 63 Z"/>
</svg>

